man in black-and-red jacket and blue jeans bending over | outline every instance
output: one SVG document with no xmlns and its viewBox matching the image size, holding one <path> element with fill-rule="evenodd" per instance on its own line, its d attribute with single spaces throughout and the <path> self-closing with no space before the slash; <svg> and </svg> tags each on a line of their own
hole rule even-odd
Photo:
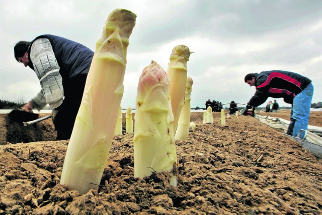
<svg viewBox="0 0 322 215">
<path fill-rule="evenodd" d="M 243 115 L 252 107 L 263 104 L 268 97 L 284 98 L 292 104 L 290 124 L 287 134 L 297 136 L 301 129 L 307 130 L 310 107 L 313 96 L 312 81 L 294 72 L 273 70 L 250 73 L 245 76 L 245 83 L 256 87 L 256 92 L 243 110 Z M 303 138 L 302 132 L 300 138 Z"/>
</svg>

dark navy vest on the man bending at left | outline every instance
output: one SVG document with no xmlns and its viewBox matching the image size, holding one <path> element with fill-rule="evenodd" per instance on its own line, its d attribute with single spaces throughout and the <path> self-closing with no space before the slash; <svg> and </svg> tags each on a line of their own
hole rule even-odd
<svg viewBox="0 0 322 215">
<path fill-rule="evenodd" d="M 50 41 L 60 67 L 59 73 L 62 77 L 64 87 L 70 79 L 78 74 L 88 74 L 94 52 L 82 44 L 54 35 L 41 35 L 30 43 L 27 51 L 29 65 L 32 66 L 29 57 L 31 45 L 39 38 L 47 38 Z M 33 69 L 33 66 L 30 68 Z"/>
</svg>

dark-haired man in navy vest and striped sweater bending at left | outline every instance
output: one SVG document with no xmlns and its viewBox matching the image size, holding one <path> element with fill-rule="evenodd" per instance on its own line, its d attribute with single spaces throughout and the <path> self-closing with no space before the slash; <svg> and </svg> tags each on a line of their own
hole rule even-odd
<svg viewBox="0 0 322 215">
<path fill-rule="evenodd" d="M 19 63 L 35 71 L 41 91 L 22 108 L 42 109 L 49 104 L 57 140 L 69 139 L 81 105 L 94 52 L 82 44 L 54 35 L 20 41 L 14 47 Z"/>
</svg>

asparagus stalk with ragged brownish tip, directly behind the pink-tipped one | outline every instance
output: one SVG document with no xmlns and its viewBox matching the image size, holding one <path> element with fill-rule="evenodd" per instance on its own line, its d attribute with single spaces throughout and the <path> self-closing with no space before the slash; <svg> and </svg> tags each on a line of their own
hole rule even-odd
<svg viewBox="0 0 322 215">
<path fill-rule="evenodd" d="M 173 48 L 170 55 L 170 63 L 167 75 L 170 80 L 170 97 L 172 112 L 174 115 L 174 132 L 176 133 L 180 112 L 185 102 L 185 91 L 187 82 L 187 62 L 191 52 L 185 45 Z"/>
</svg>

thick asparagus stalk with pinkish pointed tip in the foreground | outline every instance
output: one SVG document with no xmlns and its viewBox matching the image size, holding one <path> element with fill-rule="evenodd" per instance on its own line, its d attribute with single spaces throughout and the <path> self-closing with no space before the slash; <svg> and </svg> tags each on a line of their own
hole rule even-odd
<svg viewBox="0 0 322 215">
<path fill-rule="evenodd" d="M 170 83 L 156 62 L 145 67 L 139 78 L 134 115 L 134 177 L 169 172 L 177 185 L 177 153 L 173 132 Z"/>
</svg>

